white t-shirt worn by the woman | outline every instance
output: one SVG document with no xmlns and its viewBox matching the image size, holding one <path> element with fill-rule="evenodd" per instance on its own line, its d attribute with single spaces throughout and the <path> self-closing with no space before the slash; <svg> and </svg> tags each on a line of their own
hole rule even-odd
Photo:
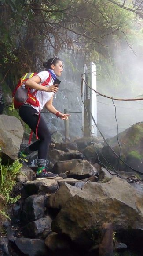
<svg viewBox="0 0 143 256">
<path fill-rule="evenodd" d="M 44 83 L 44 81 L 46 81 L 46 79 L 49 77 L 49 72 L 41 71 L 37 75 L 41 78 L 41 82 L 39 84 L 42 85 Z M 53 83 L 54 83 L 54 80 L 53 80 L 53 78 L 51 78 L 48 85 L 45 85 L 45 86 L 46 87 L 51 86 L 51 85 L 53 85 Z M 31 89 L 30 91 L 31 91 L 31 93 L 33 93 L 35 91 L 35 89 Z M 48 93 L 48 92 L 44 92 L 44 91 L 37 91 L 35 97 L 39 101 L 40 107 L 34 107 L 33 105 L 31 105 L 31 106 L 39 112 L 40 110 L 42 110 L 44 108 L 44 105 L 51 99 L 53 94 L 54 94 L 53 92 Z"/>
</svg>

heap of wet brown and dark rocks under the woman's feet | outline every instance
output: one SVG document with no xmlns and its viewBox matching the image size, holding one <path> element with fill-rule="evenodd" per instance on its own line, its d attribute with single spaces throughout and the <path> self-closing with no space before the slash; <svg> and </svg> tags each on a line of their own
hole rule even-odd
<svg viewBox="0 0 143 256">
<path fill-rule="evenodd" d="M 97 138 L 94 143 L 101 150 Z M 31 159 L 36 163 L 37 154 Z M 104 222 L 113 225 L 117 251 L 140 249 L 143 182 L 135 172 L 110 172 L 95 159 L 86 138 L 51 145 L 47 163 L 58 173 L 54 179 L 36 180 L 36 167 L 22 166 L 13 189 L 22 198 L 3 223 L 1 256 L 95 256 Z"/>
</svg>

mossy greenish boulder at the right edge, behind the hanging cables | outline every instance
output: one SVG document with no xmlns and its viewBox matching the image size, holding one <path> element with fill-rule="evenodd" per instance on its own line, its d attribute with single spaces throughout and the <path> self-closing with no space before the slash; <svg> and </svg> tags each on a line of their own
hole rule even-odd
<svg viewBox="0 0 143 256">
<path fill-rule="evenodd" d="M 143 173 L 143 122 L 136 123 L 124 132 L 119 133 L 118 139 L 121 146 L 120 170 L 131 171 L 130 167 L 132 167 Z M 117 136 L 107 141 L 109 145 L 103 147 L 99 159 L 107 167 L 112 165 L 117 169 L 118 155 L 120 155 Z M 123 163 L 122 160 L 124 160 L 127 165 Z"/>
</svg>

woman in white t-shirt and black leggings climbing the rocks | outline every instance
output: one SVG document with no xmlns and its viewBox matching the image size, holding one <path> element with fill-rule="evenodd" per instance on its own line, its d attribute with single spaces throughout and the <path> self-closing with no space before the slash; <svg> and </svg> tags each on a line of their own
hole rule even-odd
<svg viewBox="0 0 143 256">
<path fill-rule="evenodd" d="M 49 112 L 62 120 L 66 120 L 68 116 L 70 116 L 69 114 L 62 114 L 52 105 L 53 95 L 57 93 L 59 86 L 54 85 L 54 81 L 57 76 L 60 77 L 62 74 L 62 61 L 58 57 L 50 58 L 47 62 L 43 63 L 43 66 L 46 68 L 45 71 L 41 71 L 25 82 L 25 85 L 31 88 L 31 92 L 37 90 L 36 98 L 39 101 L 39 107 L 25 103 L 19 109 L 19 115 L 22 120 L 29 125 L 31 130 L 37 134 L 39 138 L 39 140 L 27 147 L 25 151 L 19 152 L 19 159 L 26 159 L 27 155 L 38 150 L 37 179 L 55 178 L 57 176 L 57 174 L 45 170 L 48 148 L 51 143 L 51 134 L 44 118 L 40 116 L 40 111 L 45 106 Z M 49 76 L 51 76 L 51 79 L 48 85 L 42 86 L 42 83 L 46 81 Z"/>
</svg>

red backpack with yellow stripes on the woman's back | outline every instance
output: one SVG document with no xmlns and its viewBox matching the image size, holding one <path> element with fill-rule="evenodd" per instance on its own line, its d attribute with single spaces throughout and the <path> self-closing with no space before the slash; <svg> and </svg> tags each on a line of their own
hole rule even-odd
<svg viewBox="0 0 143 256">
<path fill-rule="evenodd" d="M 37 93 L 37 90 L 35 90 L 33 93 L 30 92 L 30 88 L 25 85 L 25 82 L 29 79 L 35 76 L 38 73 L 31 72 L 26 73 L 22 75 L 22 77 L 19 79 L 18 84 L 15 87 L 15 90 L 12 92 L 12 98 L 13 98 L 13 105 L 15 109 L 19 109 L 24 103 L 29 103 L 30 105 L 33 105 L 35 107 L 39 107 L 39 101 L 35 97 L 35 94 Z M 48 85 L 51 79 L 51 74 L 49 73 L 49 77 L 46 81 L 42 84 L 43 86 Z"/>
</svg>

